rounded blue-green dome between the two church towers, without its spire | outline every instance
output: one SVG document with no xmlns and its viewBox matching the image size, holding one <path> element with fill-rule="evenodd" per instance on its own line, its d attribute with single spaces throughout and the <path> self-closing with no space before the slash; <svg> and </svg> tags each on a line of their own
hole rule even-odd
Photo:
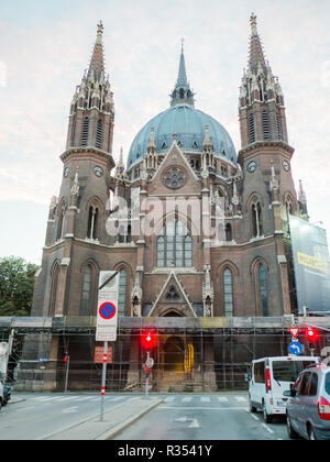
<svg viewBox="0 0 330 462">
<path fill-rule="evenodd" d="M 189 105 L 176 105 L 153 118 L 135 136 L 128 158 L 128 169 L 140 162 L 146 151 L 151 129 L 155 131 L 157 153 L 166 153 L 173 143 L 173 134 L 183 151 L 200 153 L 205 128 L 215 147 L 215 155 L 226 157 L 237 165 L 237 152 L 227 130 L 216 119 Z"/>
</svg>

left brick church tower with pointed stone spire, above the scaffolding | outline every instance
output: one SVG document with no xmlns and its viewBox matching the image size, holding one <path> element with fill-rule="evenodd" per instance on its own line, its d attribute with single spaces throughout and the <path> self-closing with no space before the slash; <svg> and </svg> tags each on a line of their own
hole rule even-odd
<svg viewBox="0 0 330 462">
<path fill-rule="evenodd" d="M 58 198 L 51 202 L 34 316 L 87 316 L 90 306 L 96 306 L 99 265 L 95 255 L 101 245 L 109 245 L 107 204 L 114 167 L 114 107 L 105 72 L 102 33 L 100 22 L 88 70 L 70 105 L 66 150 L 61 155 L 62 185 Z M 77 267 L 81 268 L 79 278 L 75 277 Z M 81 300 L 75 297 L 77 293 L 82 294 Z"/>
</svg>

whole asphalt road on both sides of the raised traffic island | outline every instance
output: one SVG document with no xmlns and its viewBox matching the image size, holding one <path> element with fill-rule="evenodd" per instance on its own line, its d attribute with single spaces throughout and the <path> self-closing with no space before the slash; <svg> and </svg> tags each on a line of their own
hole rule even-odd
<svg viewBox="0 0 330 462">
<path fill-rule="evenodd" d="M 105 409 L 135 394 L 106 396 Z M 152 395 L 154 396 L 154 395 Z M 156 395 L 163 403 L 128 427 L 116 440 L 287 440 L 284 421 L 265 424 L 251 414 L 244 394 Z M 97 394 L 19 394 L 0 413 L 0 440 L 40 440 L 99 415 Z"/>
</svg>

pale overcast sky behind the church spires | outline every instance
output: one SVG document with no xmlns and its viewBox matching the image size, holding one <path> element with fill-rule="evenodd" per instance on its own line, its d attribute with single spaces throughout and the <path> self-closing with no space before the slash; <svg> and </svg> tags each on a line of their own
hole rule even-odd
<svg viewBox="0 0 330 462">
<path fill-rule="evenodd" d="M 40 263 L 48 205 L 62 182 L 68 111 L 97 23 L 114 92 L 113 154 L 168 108 L 185 38 L 196 107 L 240 150 L 239 87 L 250 15 L 287 108 L 296 188 L 330 230 L 329 0 L 11 0 L 0 18 L 0 256 Z"/>
</svg>

